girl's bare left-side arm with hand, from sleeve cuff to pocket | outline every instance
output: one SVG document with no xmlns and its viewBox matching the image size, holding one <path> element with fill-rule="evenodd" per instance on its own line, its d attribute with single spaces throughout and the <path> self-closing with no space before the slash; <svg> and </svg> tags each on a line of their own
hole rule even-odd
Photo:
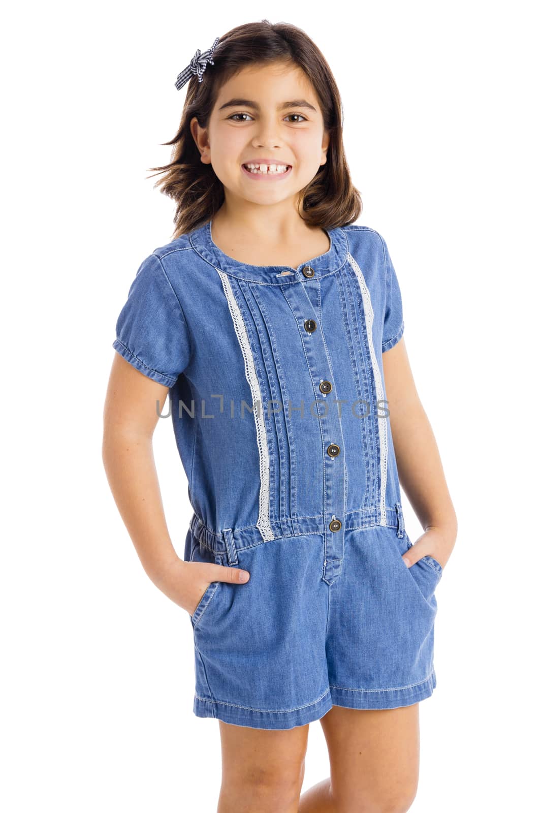
<svg viewBox="0 0 542 813">
<path fill-rule="evenodd" d="M 115 353 L 103 412 L 102 460 L 116 506 L 147 576 L 191 613 L 211 581 L 240 581 L 242 571 L 184 562 L 173 547 L 152 443 L 167 393 L 166 386 Z"/>
</svg>

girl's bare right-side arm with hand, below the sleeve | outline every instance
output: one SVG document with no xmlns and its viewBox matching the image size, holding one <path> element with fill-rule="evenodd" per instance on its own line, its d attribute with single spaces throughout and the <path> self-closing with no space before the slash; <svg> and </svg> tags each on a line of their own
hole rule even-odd
<svg viewBox="0 0 542 813">
<path fill-rule="evenodd" d="M 425 532 L 403 559 L 414 564 L 430 555 L 444 567 L 455 545 L 457 517 L 436 439 L 414 384 L 405 338 L 382 359 L 397 472 Z"/>
</svg>

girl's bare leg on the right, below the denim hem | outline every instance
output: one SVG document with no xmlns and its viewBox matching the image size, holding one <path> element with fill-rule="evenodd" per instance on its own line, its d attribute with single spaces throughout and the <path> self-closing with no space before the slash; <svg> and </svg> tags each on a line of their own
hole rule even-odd
<svg viewBox="0 0 542 813">
<path fill-rule="evenodd" d="M 331 777 L 302 794 L 299 813 L 408 811 L 418 789 L 418 706 L 333 706 L 320 720 Z"/>
</svg>

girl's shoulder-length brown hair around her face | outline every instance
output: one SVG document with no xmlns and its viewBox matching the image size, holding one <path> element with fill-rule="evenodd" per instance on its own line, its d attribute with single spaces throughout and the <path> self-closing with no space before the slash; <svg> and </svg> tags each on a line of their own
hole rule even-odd
<svg viewBox="0 0 542 813">
<path fill-rule="evenodd" d="M 238 25 L 220 37 L 213 59 L 215 63 L 207 65 L 202 82 L 195 75 L 188 82 L 176 137 L 163 144 L 175 145 L 171 163 L 149 170 L 163 173 L 154 186 L 177 203 L 173 239 L 211 220 L 224 201 L 222 181 L 210 164 L 200 160 L 190 121 L 196 116 L 200 127 L 206 128 L 219 89 L 232 76 L 246 65 L 277 61 L 293 63 L 306 74 L 319 99 L 324 129 L 329 133 L 327 161 L 301 190 L 299 215 L 307 224 L 320 228 L 336 228 L 357 220 L 362 199 L 352 184 L 345 158 L 339 89 L 326 59 L 310 37 L 287 23 L 261 20 Z"/>
</svg>

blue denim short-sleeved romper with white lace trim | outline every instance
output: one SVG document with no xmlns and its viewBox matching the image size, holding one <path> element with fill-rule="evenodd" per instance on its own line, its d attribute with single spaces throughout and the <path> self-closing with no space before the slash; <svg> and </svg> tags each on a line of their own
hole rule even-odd
<svg viewBox="0 0 542 813">
<path fill-rule="evenodd" d="M 238 262 L 212 221 L 148 256 L 115 350 L 170 388 L 193 516 L 184 559 L 241 567 L 192 616 L 193 712 L 251 728 L 436 686 L 440 563 L 405 532 L 382 353 L 405 328 L 384 239 L 327 231 L 296 269 Z"/>
</svg>

